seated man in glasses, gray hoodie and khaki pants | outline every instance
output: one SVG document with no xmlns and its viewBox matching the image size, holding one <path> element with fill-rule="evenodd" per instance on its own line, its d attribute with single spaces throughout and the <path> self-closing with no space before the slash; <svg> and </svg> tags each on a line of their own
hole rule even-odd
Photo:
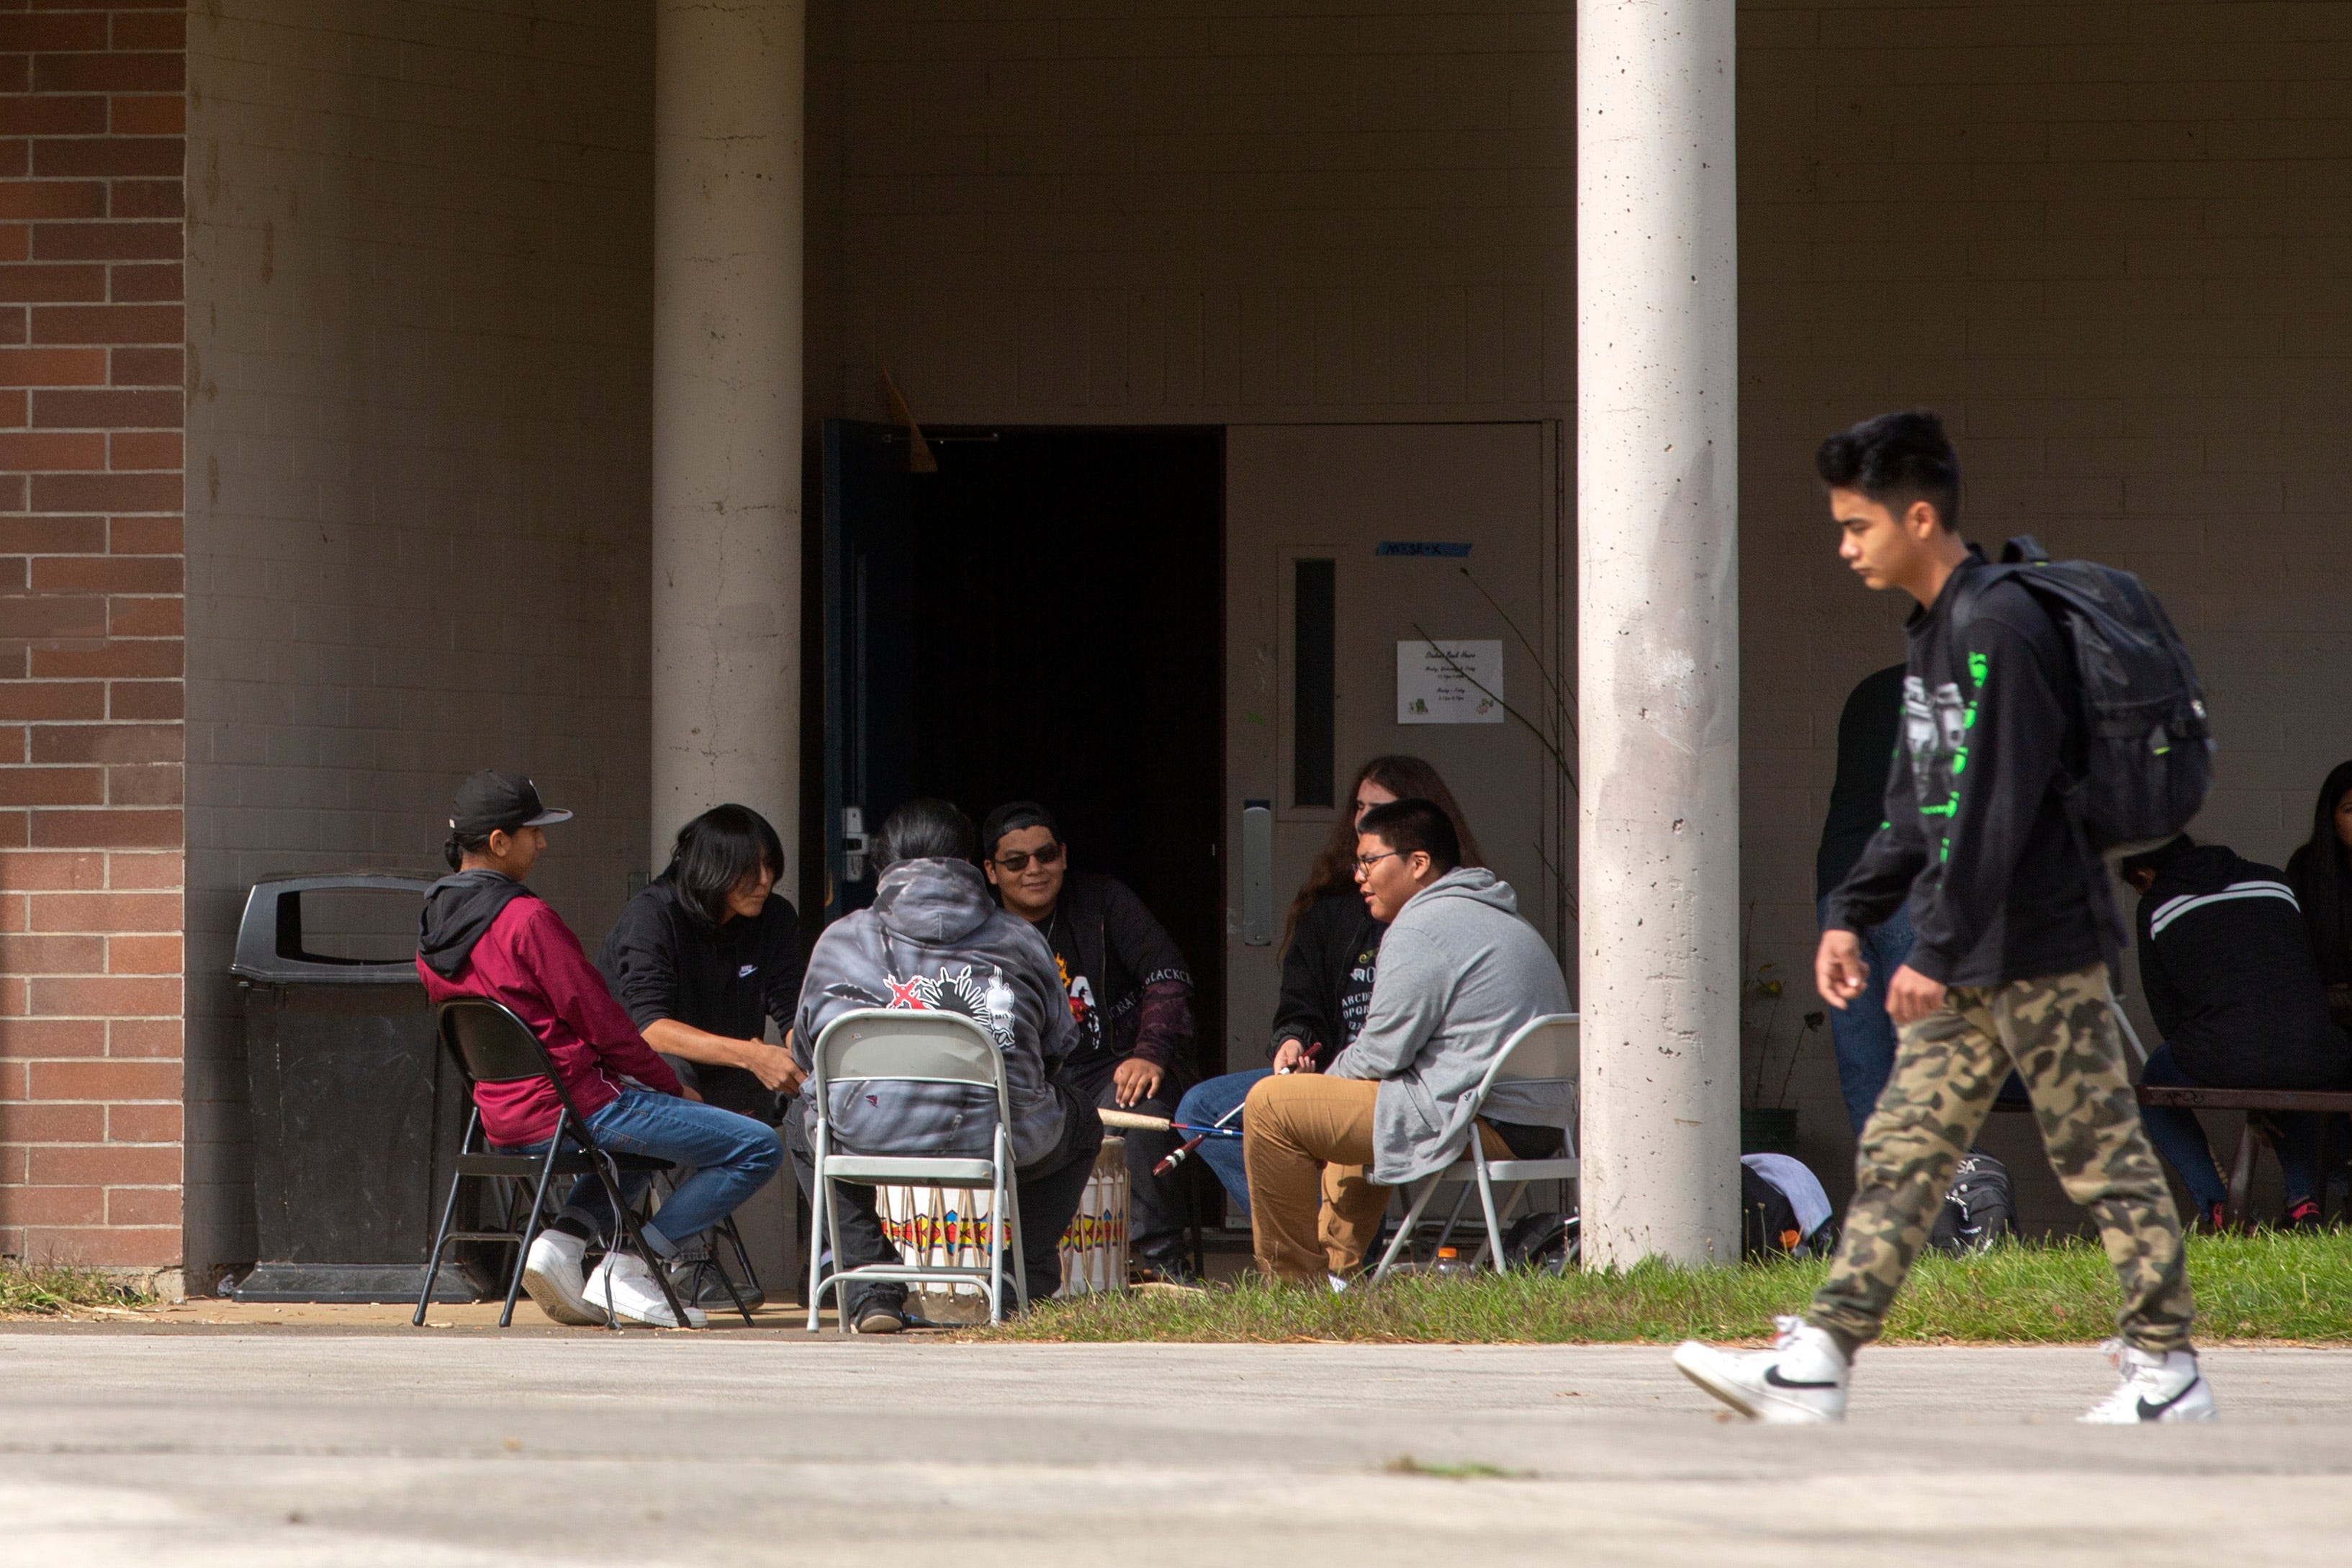
<svg viewBox="0 0 2352 1568">
<path fill-rule="evenodd" d="M 1261 1079 L 1242 1110 L 1249 1225 L 1258 1269 L 1272 1279 L 1341 1284 L 1364 1255 L 1388 1190 L 1444 1171 L 1472 1131 L 1494 1157 L 1512 1152 L 1470 1098 L 1503 1044 L 1545 1013 L 1569 1011 L 1559 964 L 1519 919 L 1510 884 L 1461 867 L 1446 813 L 1425 799 L 1374 806 L 1357 825 L 1357 879 L 1381 938 L 1381 973 L 1364 1032 L 1322 1072 Z M 1498 1084 L 1489 1110 L 1512 1133 L 1559 1147 L 1569 1091 Z M 1315 1199 L 1322 1197 L 1317 1234 Z"/>
</svg>

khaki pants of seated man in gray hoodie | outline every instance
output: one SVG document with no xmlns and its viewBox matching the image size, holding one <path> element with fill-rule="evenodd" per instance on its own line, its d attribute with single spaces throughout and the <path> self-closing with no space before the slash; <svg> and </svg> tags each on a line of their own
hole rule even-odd
<svg viewBox="0 0 2352 1568">
<path fill-rule="evenodd" d="M 1388 1187 L 1371 1180 L 1371 1079 L 1291 1072 L 1261 1079 L 1242 1110 L 1249 1234 L 1268 1279 L 1322 1284 L 1364 1260 L 1381 1234 Z M 1479 1121 L 1486 1154 L 1505 1157 Z M 1317 1218 L 1317 1199 L 1322 1215 Z"/>
</svg>

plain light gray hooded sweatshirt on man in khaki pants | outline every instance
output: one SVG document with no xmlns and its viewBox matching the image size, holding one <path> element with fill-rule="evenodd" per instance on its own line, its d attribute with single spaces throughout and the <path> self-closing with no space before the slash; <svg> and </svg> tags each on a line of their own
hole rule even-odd
<svg viewBox="0 0 2352 1568">
<path fill-rule="evenodd" d="M 1489 870 L 1451 870 L 1421 889 L 1381 940 L 1371 1013 L 1327 1072 L 1378 1079 L 1371 1178 L 1399 1187 L 1470 1147 L 1470 1098 L 1519 1027 L 1569 1011 L 1552 950 L 1519 919 L 1519 898 Z M 1489 1121 L 1569 1126 L 1566 1088 L 1496 1084 Z"/>
</svg>

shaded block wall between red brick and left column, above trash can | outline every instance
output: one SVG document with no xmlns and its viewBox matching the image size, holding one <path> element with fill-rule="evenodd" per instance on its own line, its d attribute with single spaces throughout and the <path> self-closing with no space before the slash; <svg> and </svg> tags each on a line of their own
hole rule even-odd
<svg viewBox="0 0 2352 1568">
<path fill-rule="evenodd" d="M 245 889 L 440 872 L 520 769 L 595 950 L 647 863 L 652 12 L 191 21 L 191 1269 L 252 1260 Z"/>
</svg>

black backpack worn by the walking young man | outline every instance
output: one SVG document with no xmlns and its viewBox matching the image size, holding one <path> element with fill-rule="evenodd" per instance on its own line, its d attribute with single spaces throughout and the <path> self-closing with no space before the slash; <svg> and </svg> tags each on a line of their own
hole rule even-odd
<svg viewBox="0 0 2352 1568">
<path fill-rule="evenodd" d="M 2042 541 L 2020 534 L 2002 548 L 2002 564 L 1969 574 L 1952 604 L 1955 632 L 1976 595 L 2002 581 L 2032 592 L 2074 654 L 2086 755 L 2070 802 L 2089 849 L 2178 835 L 2213 788 L 2213 731 L 2204 682 L 2164 604 L 2129 571 L 2053 562 Z"/>
</svg>

